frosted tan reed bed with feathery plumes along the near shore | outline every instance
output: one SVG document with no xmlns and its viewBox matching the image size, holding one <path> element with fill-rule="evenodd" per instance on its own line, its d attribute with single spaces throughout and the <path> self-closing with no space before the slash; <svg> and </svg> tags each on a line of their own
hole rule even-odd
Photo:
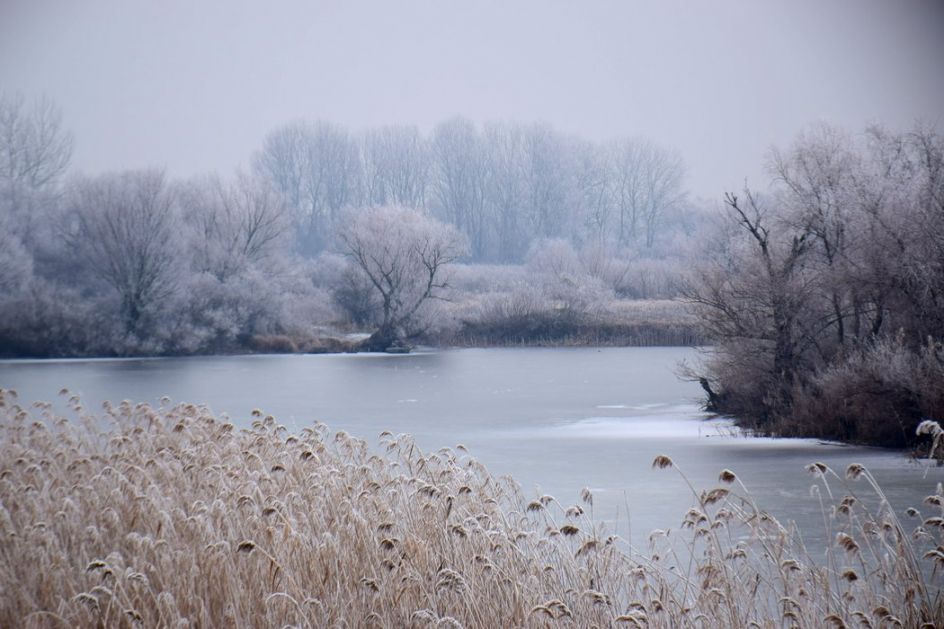
<svg viewBox="0 0 944 629">
<path fill-rule="evenodd" d="M 589 490 L 526 498 L 461 446 L 63 395 L 0 390 L 3 627 L 944 626 L 941 487 L 906 526 L 868 470 L 813 464 L 814 561 L 723 470 L 636 550 Z"/>
</svg>

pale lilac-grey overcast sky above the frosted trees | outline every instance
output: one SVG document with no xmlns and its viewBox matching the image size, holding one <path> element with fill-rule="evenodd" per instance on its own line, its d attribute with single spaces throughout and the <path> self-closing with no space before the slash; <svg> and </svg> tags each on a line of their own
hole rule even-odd
<svg viewBox="0 0 944 629">
<path fill-rule="evenodd" d="M 0 0 L 0 90 L 57 101 L 90 173 L 462 115 L 646 136 L 715 196 L 814 121 L 941 125 L 944 2 Z"/>
</svg>

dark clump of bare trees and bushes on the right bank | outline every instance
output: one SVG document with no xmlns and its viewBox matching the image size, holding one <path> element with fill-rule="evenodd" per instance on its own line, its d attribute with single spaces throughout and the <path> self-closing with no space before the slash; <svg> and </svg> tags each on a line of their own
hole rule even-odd
<svg viewBox="0 0 944 629">
<path fill-rule="evenodd" d="M 762 432 L 901 446 L 944 417 L 944 140 L 819 127 L 727 197 L 688 295 L 709 404 Z"/>
</svg>

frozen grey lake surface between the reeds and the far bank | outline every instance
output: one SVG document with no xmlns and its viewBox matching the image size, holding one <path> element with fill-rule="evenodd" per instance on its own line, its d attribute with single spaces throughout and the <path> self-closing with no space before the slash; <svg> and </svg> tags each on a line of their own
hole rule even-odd
<svg viewBox="0 0 944 629">
<path fill-rule="evenodd" d="M 696 357 L 682 348 L 557 348 L 0 361 L 0 387 L 22 401 L 60 402 L 57 392 L 67 387 L 89 408 L 106 399 L 156 404 L 168 395 L 241 425 L 261 408 L 293 431 L 322 421 L 371 443 L 383 430 L 410 433 L 430 451 L 461 443 L 493 474 L 513 476 L 529 498 L 549 493 L 566 505 L 591 488 L 595 517 L 624 536 L 631 531 L 635 543 L 652 529 L 678 528 L 692 502 L 673 470 L 651 469 L 658 454 L 699 489 L 734 470 L 761 508 L 796 520 L 811 547 L 824 533 L 809 463 L 840 474 L 864 464 L 899 512 L 920 507 L 944 481 L 944 468 L 898 452 L 748 438 L 725 421 L 705 421 L 700 388 L 675 375 L 680 361 Z M 869 495 L 862 481 L 851 486 Z"/>
</svg>

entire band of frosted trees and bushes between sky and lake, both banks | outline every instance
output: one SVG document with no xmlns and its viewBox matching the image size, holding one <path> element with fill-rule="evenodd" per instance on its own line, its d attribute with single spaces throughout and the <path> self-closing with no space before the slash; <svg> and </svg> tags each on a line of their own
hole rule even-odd
<svg viewBox="0 0 944 629">
<path fill-rule="evenodd" d="M 744 426 L 881 445 L 944 418 L 944 141 L 814 126 L 771 185 L 543 124 L 276 128 L 249 172 L 69 174 L 57 107 L 0 100 L 0 354 L 711 345 Z M 360 333 L 360 335 L 358 335 Z"/>
</svg>

